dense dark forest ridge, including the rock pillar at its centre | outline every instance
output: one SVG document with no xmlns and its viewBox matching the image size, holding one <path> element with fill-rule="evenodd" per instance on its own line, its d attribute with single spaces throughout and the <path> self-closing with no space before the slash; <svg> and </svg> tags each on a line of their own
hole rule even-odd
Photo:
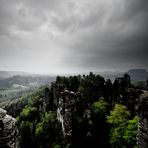
<svg viewBox="0 0 148 148">
<path fill-rule="evenodd" d="M 57 76 L 50 87 L 6 106 L 18 121 L 21 148 L 134 148 L 136 100 L 142 89 L 130 76 Z"/>
</svg>

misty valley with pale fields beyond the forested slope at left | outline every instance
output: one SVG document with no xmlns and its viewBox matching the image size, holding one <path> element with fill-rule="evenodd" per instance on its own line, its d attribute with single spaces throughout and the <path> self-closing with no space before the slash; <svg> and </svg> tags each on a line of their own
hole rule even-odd
<svg viewBox="0 0 148 148">
<path fill-rule="evenodd" d="M 21 97 L 55 80 L 55 76 L 16 74 L 19 73 L 0 72 L 0 102 Z"/>
</svg>

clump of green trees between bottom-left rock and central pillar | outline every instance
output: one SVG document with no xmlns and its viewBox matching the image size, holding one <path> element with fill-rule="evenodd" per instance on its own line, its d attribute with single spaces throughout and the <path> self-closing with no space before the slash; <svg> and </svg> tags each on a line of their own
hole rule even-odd
<svg viewBox="0 0 148 148">
<path fill-rule="evenodd" d="M 42 121 L 37 123 L 36 108 L 25 108 L 18 117 L 19 130 L 21 135 L 21 143 L 26 146 L 25 139 L 30 137 L 29 145 L 38 145 L 40 148 L 46 147 L 49 143 L 53 146 L 60 141 L 61 127 L 57 122 L 56 114 L 53 112 L 45 112 Z M 27 134 L 27 133 L 28 134 Z"/>
</svg>

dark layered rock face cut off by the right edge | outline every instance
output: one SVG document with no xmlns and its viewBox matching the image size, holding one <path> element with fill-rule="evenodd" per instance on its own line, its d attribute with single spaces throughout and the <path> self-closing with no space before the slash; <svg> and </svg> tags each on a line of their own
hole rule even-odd
<svg viewBox="0 0 148 148">
<path fill-rule="evenodd" d="M 138 100 L 138 135 L 139 148 L 148 148 L 148 92 L 145 92 Z"/>
</svg>

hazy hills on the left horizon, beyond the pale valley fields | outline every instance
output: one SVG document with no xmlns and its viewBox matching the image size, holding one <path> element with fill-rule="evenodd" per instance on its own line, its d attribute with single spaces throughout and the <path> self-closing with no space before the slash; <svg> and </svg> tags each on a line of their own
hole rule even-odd
<svg viewBox="0 0 148 148">
<path fill-rule="evenodd" d="M 49 85 L 55 79 L 56 76 L 17 71 L 0 71 L 0 89 L 40 87 Z"/>
</svg>

